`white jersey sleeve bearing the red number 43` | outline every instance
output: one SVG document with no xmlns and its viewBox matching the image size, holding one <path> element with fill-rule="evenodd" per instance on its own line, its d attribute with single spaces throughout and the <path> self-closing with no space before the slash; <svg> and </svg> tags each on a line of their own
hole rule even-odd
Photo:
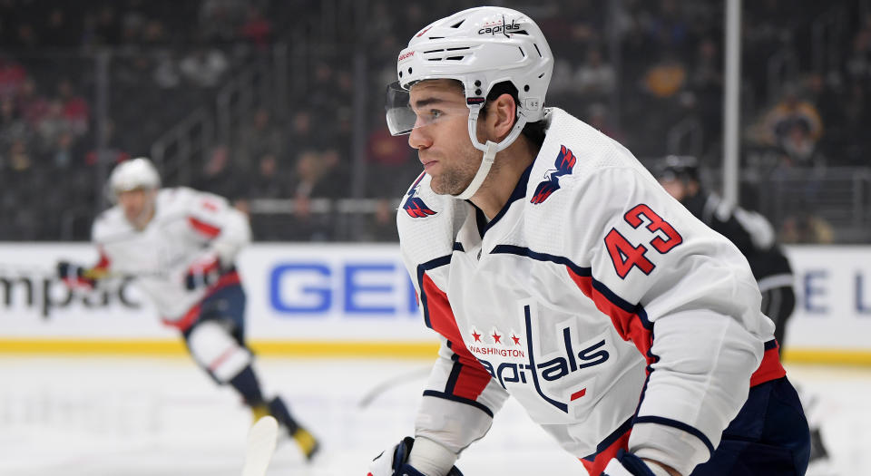
<svg viewBox="0 0 871 476">
<path fill-rule="evenodd" d="M 747 260 L 643 170 L 574 184 L 563 242 L 575 286 L 647 360 L 629 449 L 681 474 L 739 413 L 773 325 Z"/>
</svg>

